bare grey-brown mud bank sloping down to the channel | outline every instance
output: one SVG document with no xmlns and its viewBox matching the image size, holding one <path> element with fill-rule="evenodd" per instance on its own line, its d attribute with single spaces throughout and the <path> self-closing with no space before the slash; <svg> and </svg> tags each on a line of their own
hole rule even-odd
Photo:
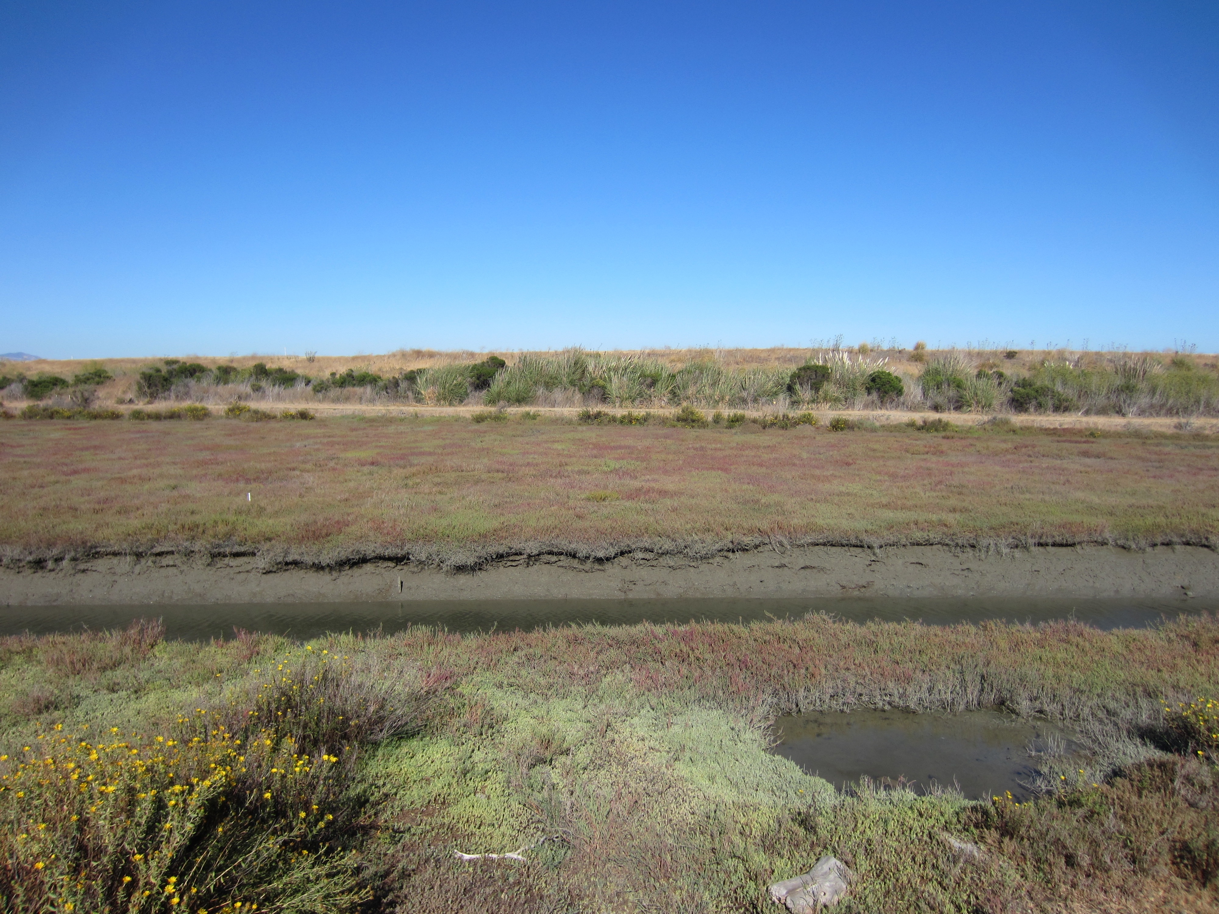
<svg viewBox="0 0 1219 914">
<path fill-rule="evenodd" d="M 703 559 L 508 556 L 477 572 L 411 562 L 269 570 L 257 557 L 102 557 L 55 570 L 0 569 L 0 603 L 294 603 L 663 597 L 1215 597 L 1219 552 L 1051 546 L 807 546 Z"/>
</svg>

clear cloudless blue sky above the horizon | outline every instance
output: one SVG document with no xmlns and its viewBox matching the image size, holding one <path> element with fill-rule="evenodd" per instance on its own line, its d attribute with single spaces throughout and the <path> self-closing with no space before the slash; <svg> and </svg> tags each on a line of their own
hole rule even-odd
<svg viewBox="0 0 1219 914">
<path fill-rule="evenodd" d="M 0 352 L 1219 350 L 1219 4 L 0 4 Z"/>
</svg>

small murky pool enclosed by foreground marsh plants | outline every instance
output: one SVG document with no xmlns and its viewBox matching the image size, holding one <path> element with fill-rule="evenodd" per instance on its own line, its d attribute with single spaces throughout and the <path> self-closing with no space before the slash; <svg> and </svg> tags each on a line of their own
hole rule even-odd
<svg viewBox="0 0 1219 914">
<path fill-rule="evenodd" d="M 919 792 L 956 787 L 969 799 L 1004 791 L 1025 798 L 1036 767 L 1028 747 L 1043 751 L 1052 736 L 1061 739 L 1048 724 L 992 710 L 794 714 L 779 718 L 775 730 L 783 740 L 777 754 L 839 790 L 865 776 Z"/>
</svg>

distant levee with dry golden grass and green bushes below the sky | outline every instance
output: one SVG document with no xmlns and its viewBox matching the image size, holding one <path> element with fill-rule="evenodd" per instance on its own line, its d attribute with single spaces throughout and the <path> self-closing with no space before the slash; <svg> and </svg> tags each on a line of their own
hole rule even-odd
<svg viewBox="0 0 1219 914">
<path fill-rule="evenodd" d="M 879 341 L 878 341 L 879 342 Z M 1219 363 L 1131 353 L 861 344 L 797 350 L 473 352 L 383 356 L 0 362 L 7 402 L 235 401 L 352 406 L 934 409 L 990 414 L 1219 416 Z M 269 362 L 269 364 L 267 363 Z M 0 412 L 0 416 L 4 416 Z M 41 418 L 65 418 L 44 413 Z M 88 418 L 105 418 L 91 416 Z"/>
</svg>

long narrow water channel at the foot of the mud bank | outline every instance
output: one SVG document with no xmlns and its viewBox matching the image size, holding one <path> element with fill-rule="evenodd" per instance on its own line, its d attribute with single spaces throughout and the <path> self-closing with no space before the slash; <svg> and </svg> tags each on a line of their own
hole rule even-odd
<svg viewBox="0 0 1219 914">
<path fill-rule="evenodd" d="M 818 600 L 447 600 L 364 603 L 144 603 L 133 606 L 7 606 L 0 608 L 0 635 L 50 634 L 126 626 L 133 619 L 161 618 L 169 637 L 189 641 L 232 636 L 233 628 L 317 637 L 328 631 L 401 631 L 440 625 L 450 631 L 530 630 L 547 625 L 599 623 L 766 622 L 829 613 L 850 622 L 928 625 L 1007 619 L 1037 623 L 1075 619 L 1101 629 L 1139 628 L 1179 613 L 1219 609 L 1219 601 L 1195 600 L 1028 600 L 948 597 L 837 597 Z"/>
</svg>

